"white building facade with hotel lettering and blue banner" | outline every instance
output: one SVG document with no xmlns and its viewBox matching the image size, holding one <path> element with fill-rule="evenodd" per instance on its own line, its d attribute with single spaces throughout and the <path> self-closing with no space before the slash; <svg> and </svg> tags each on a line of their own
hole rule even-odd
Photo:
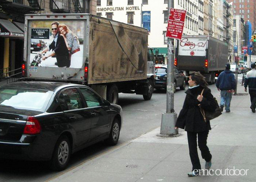
<svg viewBox="0 0 256 182">
<path fill-rule="evenodd" d="M 203 35 L 202 0 L 174 0 L 173 7 L 187 10 L 184 35 Z M 147 28 L 148 45 L 166 62 L 168 0 L 97 0 L 97 15 Z"/>
</svg>

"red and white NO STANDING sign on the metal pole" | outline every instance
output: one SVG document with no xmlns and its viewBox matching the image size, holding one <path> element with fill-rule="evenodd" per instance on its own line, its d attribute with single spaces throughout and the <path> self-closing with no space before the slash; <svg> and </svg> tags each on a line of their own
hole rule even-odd
<svg viewBox="0 0 256 182">
<path fill-rule="evenodd" d="M 186 10 L 174 8 L 170 9 L 166 37 L 181 39 L 185 17 Z"/>
</svg>

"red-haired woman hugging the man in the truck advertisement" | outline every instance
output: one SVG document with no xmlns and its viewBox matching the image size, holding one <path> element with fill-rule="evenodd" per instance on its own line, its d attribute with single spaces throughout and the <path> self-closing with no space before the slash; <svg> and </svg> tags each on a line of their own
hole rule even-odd
<svg viewBox="0 0 256 182">
<path fill-rule="evenodd" d="M 59 24 L 59 32 L 60 35 L 63 36 L 69 54 L 71 55 L 70 67 L 81 68 L 81 58 L 78 54 L 78 51 L 80 51 L 78 36 L 76 36 L 65 24 Z"/>
</svg>

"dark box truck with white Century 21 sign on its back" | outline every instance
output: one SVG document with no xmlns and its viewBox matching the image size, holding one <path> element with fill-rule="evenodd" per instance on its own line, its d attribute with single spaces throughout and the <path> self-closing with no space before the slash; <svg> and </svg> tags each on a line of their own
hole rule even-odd
<svg viewBox="0 0 256 182">
<path fill-rule="evenodd" d="M 174 65 L 189 73 L 199 71 L 213 84 L 228 62 L 227 43 L 207 35 L 183 35 L 178 41 Z"/>
</svg>

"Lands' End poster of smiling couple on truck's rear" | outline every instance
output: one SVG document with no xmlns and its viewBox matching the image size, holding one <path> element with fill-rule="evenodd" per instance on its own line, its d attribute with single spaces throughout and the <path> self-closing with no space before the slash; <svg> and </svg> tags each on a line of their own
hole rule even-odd
<svg viewBox="0 0 256 182">
<path fill-rule="evenodd" d="M 29 66 L 82 68 L 83 21 L 34 20 L 30 27 Z"/>
</svg>

